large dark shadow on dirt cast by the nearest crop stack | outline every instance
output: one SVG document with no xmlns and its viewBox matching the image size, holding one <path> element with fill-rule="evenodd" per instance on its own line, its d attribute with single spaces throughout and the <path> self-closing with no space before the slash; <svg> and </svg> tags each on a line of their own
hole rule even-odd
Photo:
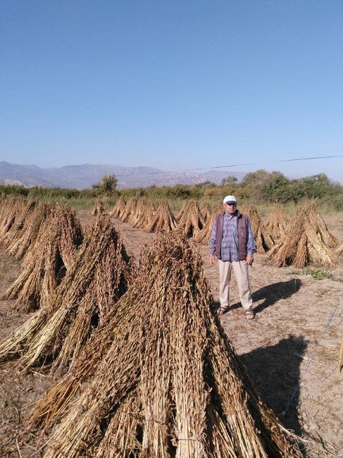
<svg viewBox="0 0 343 458">
<path fill-rule="evenodd" d="M 290 335 L 277 345 L 258 348 L 240 357 L 258 395 L 275 411 L 281 423 L 297 435 L 301 435 L 298 419 L 301 359 L 295 353 L 304 355 L 306 347 L 304 338 Z M 305 456 L 304 450 L 303 453 Z"/>
</svg>

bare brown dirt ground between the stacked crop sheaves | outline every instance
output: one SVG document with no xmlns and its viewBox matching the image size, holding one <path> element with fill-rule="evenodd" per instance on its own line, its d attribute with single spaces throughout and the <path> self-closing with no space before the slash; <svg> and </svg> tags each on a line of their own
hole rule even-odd
<svg viewBox="0 0 343 458">
<path fill-rule="evenodd" d="M 92 222 L 80 212 L 82 224 Z M 114 221 L 129 254 L 139 260 L 144 244 L 155 235 Z M 331 232 L 343 240 L 341 216 L 330 216 Z M 218 301 L 218 271 L 199 247 L 211 290 Z M 20 264 L 0 247 L 0 294 L 18 276 Z M 343 335 L 342 256 L 330 268 L 335 280 L 314 280 L 294 268 L 273 268 L 256 255 L 250 268 L 256 318 L 248 321 L 239 304 L 235 278 L 231 307 L 221 323 L 242 358 L 263 400 L 281 423 L 300 435 L 306 457 L 343 457 L 343 372 L 337 373 Z M 20 326 L 29 314 L 15 301 L 0 301 L 0 340 Z M 14 363 L 0 366 L 0 457 L 39 457 L 44 440 L 25 432 L 33 405 L 49 387 L 49 372 L 20 373 Z"/>
</svg>

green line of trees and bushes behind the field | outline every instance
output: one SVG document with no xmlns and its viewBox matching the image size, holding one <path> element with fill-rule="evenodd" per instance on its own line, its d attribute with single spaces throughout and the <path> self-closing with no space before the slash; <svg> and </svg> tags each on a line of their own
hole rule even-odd
<svg viewBox="0 0 343 458">
<path fill-rule="evenodd" d="M 343 186 L 330 180 L 325 173 L 311 175 L 304 178 L 287 178 L 279 171 L 268 172 L 258 170 L 247 173 L 241 182 L 233 175 L 228 175 L 220 185 L 215 182 L 205 181 L 197 185 L 135 187 L 118 190 L 116 175 L 104 175 L 100 182 L 92 189 L 60 189 L 44 187 L 24 187 L 18 185 L 0 185 L 0 195 L 22 195 L 35 198 L 58 199 L 89 199 L 94 197 L 151 197 L 170 199 L 189 199 L 220 197 L 223 194 L 235 194 L 242 200 L 262 202 L 299 202 L 304 198 L 326 199 L 337 210 L 343 211 Z"/>
</svg>

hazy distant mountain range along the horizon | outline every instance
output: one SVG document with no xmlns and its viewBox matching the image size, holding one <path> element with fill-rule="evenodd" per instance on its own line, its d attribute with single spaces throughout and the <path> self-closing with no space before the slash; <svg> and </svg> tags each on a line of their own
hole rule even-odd
<svg viewBox="0 0 343 458">
<path fill-rule="evenodd" d="M 54 168 L 20 166 L 0 162 L 0 183 L 24 185 L 26 187 L 73 187 L 79 190 L 92 187 L 103 175 L 114 173 L 118 187 L 173 186 L 176 184 L 196 185 L 204 181 L 220 184 L 227 175 L 235 175 L 242 180 L 245 173 L 232 171 L 166 172 L 152 167 L 123 167 L 112 165 L 81 164 Z"/>
</svg>

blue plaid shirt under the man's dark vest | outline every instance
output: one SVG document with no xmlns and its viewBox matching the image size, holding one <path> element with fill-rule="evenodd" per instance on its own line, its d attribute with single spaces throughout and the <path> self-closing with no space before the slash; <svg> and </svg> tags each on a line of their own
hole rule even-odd
<svg viewBox="0 0 343 458">
<path fill-rule="evenodd" d="M 256 252 L 254 234 L 252 233 L 249 221 L 247 221 L 247 252 L 249 256 L 253 256 Z M 214 254 L 216 249 L 216 220 L 214 221 L 211 230 L 209 242 L 210 255 Z M 229 218 L 227 213 L 223 219 L 223 239 L 221 243 L 221 258 L 222 261 L 239 261 L 238 259 L 238 231 L 237 231 L 237 213 Z"/>
</svg>

